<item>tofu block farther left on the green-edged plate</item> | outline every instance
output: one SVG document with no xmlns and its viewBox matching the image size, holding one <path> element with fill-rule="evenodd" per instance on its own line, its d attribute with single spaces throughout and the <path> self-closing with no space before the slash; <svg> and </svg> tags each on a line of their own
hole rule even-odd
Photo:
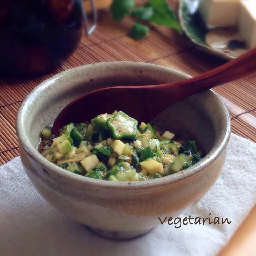
<svg viewBox="0 0 256 256">
<path fill-rule="evenodd" d="M 238 23 L 239 0 L 201 0 L 199 12 L 208 28 L 232 27 Z"/>
</svg>

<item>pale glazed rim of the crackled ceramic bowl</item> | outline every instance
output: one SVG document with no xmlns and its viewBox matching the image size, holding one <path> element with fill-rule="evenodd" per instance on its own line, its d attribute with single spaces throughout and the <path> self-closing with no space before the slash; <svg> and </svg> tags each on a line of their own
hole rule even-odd
<svg viewBox="0 0 256 256">
<path fill-rule="evenodd" d="M 157 64 L 151 64 L 151 63 L 144 63 L 144 62 L 134 62 L 134 61 L 110 61 L 110 62 L 98 62 L 98 63 L 91 63 L 91 64 L 86 64 L 78 67 L 74 67 L 65 71 L 62 71 L 56 75 L 53 75 L 52 77 L 46 79 L 45 81 L 39 83 L 34 89 L 24 98 L 24 100 L 21 103 L 21 106 L 18 109 L 17 112 L 17 117 L 16 117 L 16 132 L 17 132 L 17 137 L 19 141 L 19 145 L 22 146 L 22 148 L 25 150 L 26 154 L 33 159 L 35 162 L 37 162 L 40 166 L 43 167 L 43 169 L 46 169 L 48 172 L 52 172 L 57 177 L 59 178 L 68 178 L 70 181 L 77 182 L 81 185 L 89 185 L 89 186 L 96 186 L 96 187 L 105 187 L 105 188 L 122 188 L 122 189 L 152 189 L 153 187 L 159 187 L 163 185 L 170 185 L 173 183 L 179 183 L 182 182 L 186 179 L 191 178 L 192 176 L 197 175 L 201 171 L 203 171 L 207 166 L 209 166 L 212 162 L 214 162 L 221 154 L 222 152 L 226 149 L 227 143 L 229 141 L 230 135 L 231 135 L 231 122 L 230 122 L 230 116 L 229 112 L 224 105 L 223 101 L 221 98 L 211 89 L 207 90 L 210 91 L 210 93 L 217 99 L 219 104 L 221 105 L 224 113 L 223 115 L 225 116 L 225 121 L 226 121 L 226 126 L 225 126 L 225 131 L 223 130 L 223 135 L 221 138 L 217 140 L 217 147 L 211 148 L 209 153 L 204 157 L 204 160 L 199 161 L 198 163 L 195 163 L 193 166 L 187 168 L 186 170 L 182 171 L 182 173 L 178 172 L 175 174 L 171 174 L 165 177 L 161 177 L 161 179 L 150 179 L 150 180 L 144 180 L 144 181 L 106 181 L 106 180 L 98 180 L 98 179 L 92 179 L 89 177 L 81 177 L 81 175 L 74 174 L 72 172 L 69 172 L 54 163 L 48 161 L 45 159 L 38 151 L 37 149 L 30 143 L 29 139 L 26 139 L 26 132 L 25 132 L 25 127 L 24 127 L 24 120 L 25 120 L 25 113 L 24 109 L 29 103 L 32 101 L 34 97 L 36 97 L 36 94 L 41 91 L 43 88 L 47 87 L 48 85 L 54 83 L 57 79 L 65 76 L 67 73 L 75 73 L 77 69 L 90 69 L 90 67 L 97 67 L 102 64 L 107 64 L 107 65 L 117 65 L 117 66 L 122 66 L 122 65 L 131 65 L 133 68 L 137 68 L 138 65 L 143 65 L 143 66 L 151 66 L 156 69 L 166 69 L 166 72 L 173 72 L 173 73 L 179 73 L 182 75 L 187 76 L 188 78 L 191 77 L 188 74 L 181 72 L 179 70 L 171 69 L 169 67 L 157 65 Z M 134 65 L 136 64 L 136 65 Z M 215 141 L 216 143 L 216 141 Z"/>
</svg>

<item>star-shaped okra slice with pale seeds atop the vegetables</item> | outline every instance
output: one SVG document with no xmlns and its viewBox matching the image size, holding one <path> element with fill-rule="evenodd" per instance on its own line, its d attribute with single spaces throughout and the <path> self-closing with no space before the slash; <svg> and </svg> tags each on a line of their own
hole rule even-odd
<svg viewBox="0 0 256 256">
<path fill-rule="evenodd" d="M 134 140 L 138 121 L 122 111 L 118 111 L 114 117 L 107 119 L 106 126 L 114 139 Z"/>
</svg>

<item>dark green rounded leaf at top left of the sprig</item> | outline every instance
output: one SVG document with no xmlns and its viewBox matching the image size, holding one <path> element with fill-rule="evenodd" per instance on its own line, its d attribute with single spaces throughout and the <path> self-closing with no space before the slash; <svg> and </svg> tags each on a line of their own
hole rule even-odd
<svg viewBox="0 0 256 256">
<path fill-rule="evenodd" d="M 113 19 L 118 22 L 121 21 L 126 15 L 130 14 L 134 5 L 134 0 L 113 0 L 110 5 Z"/>
</svg>

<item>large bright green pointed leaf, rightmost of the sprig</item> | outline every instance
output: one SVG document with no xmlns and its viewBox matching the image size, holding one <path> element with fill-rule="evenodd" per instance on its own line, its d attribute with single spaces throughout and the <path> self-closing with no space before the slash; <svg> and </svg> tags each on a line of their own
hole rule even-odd
<svg viewBox="0 0 256 256">
<path fill-rule="evenodd" d="M 149 0 L 149 3 L 154 9 L 153 15 L 149 18 L 151 23 L 172 27 L 181 33 L 181 29 L 176 20 L 175 14 L 165 0 Z"/>
</svg>

